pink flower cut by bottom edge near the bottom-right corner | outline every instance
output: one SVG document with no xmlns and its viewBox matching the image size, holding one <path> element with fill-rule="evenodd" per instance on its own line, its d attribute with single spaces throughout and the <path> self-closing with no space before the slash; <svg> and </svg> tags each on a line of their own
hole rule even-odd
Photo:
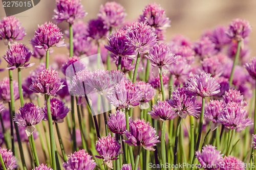
<svg viewBox="0 0 256 170">
<path fill-rule="evenodd" d="M 224 156 L 224 160 L 222 166 L 220 167 L 220 170 L 244 170 L 245 165 L 246 164 L 243 161 L 229 155 L 228 157 Z"/>
</svg>

